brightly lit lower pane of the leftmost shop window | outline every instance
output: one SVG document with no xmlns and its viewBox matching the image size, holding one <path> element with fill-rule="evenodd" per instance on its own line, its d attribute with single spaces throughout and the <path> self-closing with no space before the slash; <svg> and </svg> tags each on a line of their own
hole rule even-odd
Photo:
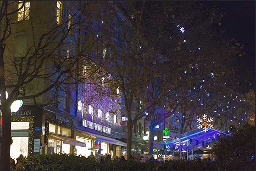
<svg viewBox="0 0 256 171">
<path fill-rule="evenodd" d="M 28 137 L 12 137 L 12 140 L 10 156 L 16 163 L 20 154 L 28 156 Z"/>
</svg>

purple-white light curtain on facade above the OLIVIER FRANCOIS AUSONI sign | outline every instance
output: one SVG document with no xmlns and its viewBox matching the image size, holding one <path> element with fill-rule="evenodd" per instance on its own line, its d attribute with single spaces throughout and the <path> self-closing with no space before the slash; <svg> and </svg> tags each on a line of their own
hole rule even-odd
<svg viewBox="0 0 256 171">
<path fill-rule="evenodd" d="M 87 66 L 89 66 L 90 68 L 90 65 L 87 65 Z M 87 67 L 87 72 L 90 73 L 89 68 Z M 96 74 L 96 76 L 98 75 Z M 86 78 L 86 81 L 101 82 L 102 77 L 98 76 L 97 78 L 98 79 L 96 80 L 91 80 L 90 78 Z M 104 83 L 104 87 L 101 86 L 101 83 L 90 84 L 90 85 L 79 84 L 78 98 L 82 102 L 84 107 L 86 107 L 84 112 L 87 113 L 88 115 L 93 115 L 96 118 L 101 118 L 104 121 L 113 123 L 116 126 L 121 126 L 121 110 L 120 110 L 121 105 L 118 103 L 121 101 L 121 95 L 118 95 L 117 98 L 114 98 L 115 95 L 121 92 L 117 89 L 110 90 L 108 88 L 109 87 L 108 80 L 113 79 L 111 75 L 104 73 L 104 78 L 106 80 L 106 82 Z M 95 91 L 95 89 L 98 89 L 98 90 Z M 101 94 L 101 91 L 104 91 L 105 95 Z"/>
</svg>

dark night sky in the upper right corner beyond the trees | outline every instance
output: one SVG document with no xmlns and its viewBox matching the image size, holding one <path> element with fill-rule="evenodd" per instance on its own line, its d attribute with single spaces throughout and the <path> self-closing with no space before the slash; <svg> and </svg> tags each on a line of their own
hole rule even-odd
<svg viewBox="0 0 256 171">
<path fill-rule="evenodd" d="M 245 45 L 245 55 L 239 57 L 238 64 L 243 63 L 251 74 L 252 89 L 255 90 L 255 1 L 200 1 L 203 6 L 223 8 L 226 14 L 221 21 L 221 30 L 229 38 Z"/>
</svg>

